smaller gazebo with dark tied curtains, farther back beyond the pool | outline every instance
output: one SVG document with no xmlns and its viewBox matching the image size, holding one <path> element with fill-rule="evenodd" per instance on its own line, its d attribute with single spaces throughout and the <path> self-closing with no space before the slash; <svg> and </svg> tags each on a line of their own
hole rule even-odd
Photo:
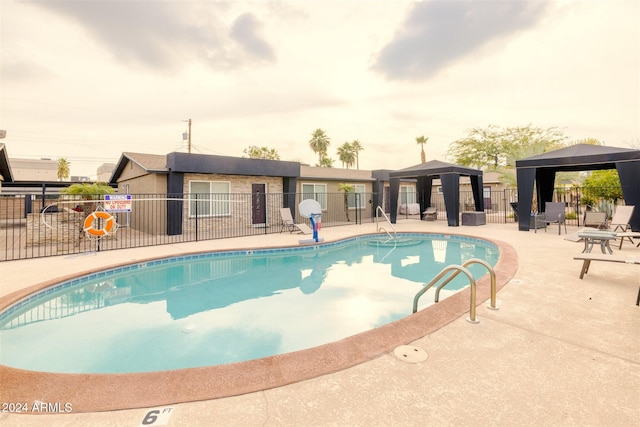
<svg viewBox="0 0 640 427">
<path fill-rule="evenodd" d="M 400 180 L 416 179 L 416 190 L 420 212 L 424 212 L 431 205 L 431 188 L 434 179 L 440 178 L 444 205 L 447 210 L 447 223 L 450 227 L 460 225 L 460 177 L 468 176 L 471 179 L 473 201 L 477 212 L 484 211 L 484 199 L 482 198 L 482 171 L 467 168 L 451 163 L 432 160 L 405 169 L 389 173 L 389 204 L 391 209 L 391 222 L 396 223 L 398 211 L 398 193 Z"/>
</svg>

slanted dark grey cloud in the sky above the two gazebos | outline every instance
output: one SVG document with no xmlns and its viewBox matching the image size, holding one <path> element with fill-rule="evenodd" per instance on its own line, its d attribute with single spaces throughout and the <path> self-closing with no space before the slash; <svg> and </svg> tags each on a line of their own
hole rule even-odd
<svg viewBox="0 0 640 427">
<path fill-rule="evenodd" d="M 547 2 L 419 2 L 377 55 L 374 69 L 390 80 L 424 80 L 489 41 L 534 26 Z"/>
</svg>

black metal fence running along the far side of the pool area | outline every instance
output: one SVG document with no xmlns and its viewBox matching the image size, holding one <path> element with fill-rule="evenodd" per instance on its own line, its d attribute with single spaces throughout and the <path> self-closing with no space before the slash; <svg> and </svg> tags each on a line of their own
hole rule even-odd
<svg viewBox="0 0 640 427">
<path fill-rule="evenodd" d="M 128 210 L 109 212 L 115 218 L 113 223 L 89 218 L 92 212 L 105 209 L 101 196 L 86 200 L 0 194 L 0 261 L 280 233 L 285 231 L 280 212 L 285 206 L 291 209 L 296 223 L 309 224 L 297 210 L 304 199 L 315 199 L 321 205 L 323 227 L 371 223 L 376 208 L 371 193 L 130 196 Z M 410 203 L 417 200 L 416 195 L 403 197 L 398 220 L 420 220 L 419 206 L 408 209 L 416 205 Z M 516 190 L 485 191 L 483 197 L 488 223 L 516 222 L 511 206 L 517 200 Z M 388 211 L 388 197 L 381 199 Z M 579 188 L 556 190 L 554 201 L 566 203 L 568 224 L 581 224 L 586 208 L 581 205 L 582 199 Z M 596 210 L 611 213 L 610 203 L 600 200 L 593 204 Z M 437 209 L 436 220 L 446 221 L 443 195 L 434 193 L 431 205 Z M 470 191 L 460 193 L 460 210 L 475 210 Z M 87 231 L 108 233 L 98 236 Z"/>
</svg>

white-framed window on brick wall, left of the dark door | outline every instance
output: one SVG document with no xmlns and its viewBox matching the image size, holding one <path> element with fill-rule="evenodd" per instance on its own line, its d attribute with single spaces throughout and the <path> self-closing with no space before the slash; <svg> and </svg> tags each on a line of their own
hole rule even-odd
<svg viewBox="0 0 640 427">
<path fill-rule="evenodd" d="M 227 216 L 231 214 L 228 181 L 190 181 L 189 216 Z"/>
</svg>

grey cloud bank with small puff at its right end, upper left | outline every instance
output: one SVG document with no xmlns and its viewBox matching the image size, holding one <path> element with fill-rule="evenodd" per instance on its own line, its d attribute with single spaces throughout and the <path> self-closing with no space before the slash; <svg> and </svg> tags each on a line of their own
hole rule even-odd
<svg viewBox="0 0 640 427">
<path fill-rule="evenodd" d="M 192 62 L 214 69 L 275 58 L 259 37 L 259 23 L 244 14 L 231 29 L 224 3 L 178 1 L 46 1 L 36 3 L 74 19 L 119 61 L 174 72 Z M 240 54 L 235 43 L 243 47 Z M 249 64 L 250 65 L 250 64 Z"/>
</svg>

